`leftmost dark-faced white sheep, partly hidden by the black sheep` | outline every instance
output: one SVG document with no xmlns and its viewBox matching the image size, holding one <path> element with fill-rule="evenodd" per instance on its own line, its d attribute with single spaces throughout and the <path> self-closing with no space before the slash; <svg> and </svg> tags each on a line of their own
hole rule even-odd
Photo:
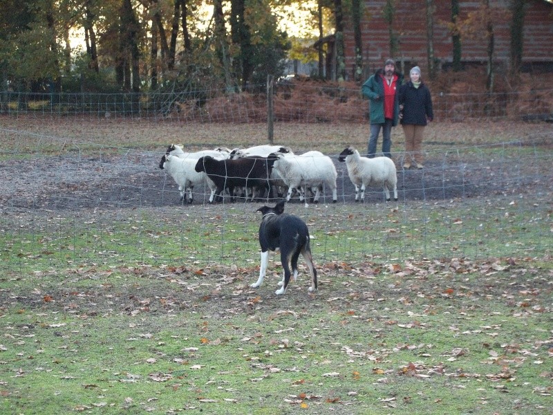
<svg viewBox="0 0 553 415">
<path fill-rule="evenodd" d="M 185 158 L 181 158 L 174 156 L 173 154 L 164 154 L 162 157 L 161 168 L 167 170 L 174 181 L 178 184 L 178 191 L 180 192 L 181 201 L 185 200 L 186 192 L 188 192 L 188 203 L 192 203 L 194 200 L 192 196 L 194 185 L 203 185 L 205 183 L 211 191 L 209 203 L 212 203 L 215 198 L 215 191 L 217 187 L 215 183 L 207 177 L 207 174 L 204 172 L 198 173 L 194 169 L 199 158 L 199 156 L 185 156 Z"/>
</svg>

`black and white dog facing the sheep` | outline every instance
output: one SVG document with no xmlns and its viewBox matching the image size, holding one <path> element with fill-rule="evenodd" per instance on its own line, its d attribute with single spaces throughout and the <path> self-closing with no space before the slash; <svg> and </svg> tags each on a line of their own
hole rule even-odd
<svg viewBox="0 0 553 415">
<path fill-rule="evenodd" d="M 261 268 L 259 269 L 259 279 L 252 284 L 253 288 L 261 286 L 265 273 L 267 272 L 267 264 L 269 261 L 269 251 L 281 252 L 281 263 L 284 270 L 282 282 L 279 282 L 279 288 L 275 294 L 282 295 L 288 288 L 290 282 L 290 261 L 292 263 L 292 271 L 294 271 L 294 281 L 298 275 L 298 257 L 299 254 L 306 260 L 311 275 L 311 286 L 309 292 L 317 290 L 317 270 L 313 266 L 311 249 L 309 247 L 309 231 L 306 223 L 293 214 L 283 213 L 284 203 L 281 201 L 269 208 L 262 206 L 256 212 L 261 212 L 261 225 L 259 225 L 259 245 L 261 245 Z"/>
</svg>

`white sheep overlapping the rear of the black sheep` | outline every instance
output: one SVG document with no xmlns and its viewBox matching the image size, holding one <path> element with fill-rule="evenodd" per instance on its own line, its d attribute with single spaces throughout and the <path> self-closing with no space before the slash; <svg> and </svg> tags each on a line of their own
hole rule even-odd
<svg viewBox="0 0 553 415">
<path fill-rule="evenodd" d="M 332 202 L 338 200 L 336 190 L 336 167 L 330 157 L 320 151 L 308 151 L 299 156 L 283 156 L 277 154 L 279 159 L 274 162 L 273 171 L 281 176 L 288 186 L 286 200 L 290 201 L 294 189 L 300 190 L 300 200 L 306 195 L 307 190 L 314 190 L 313 203 L 319 202 L 319 197 L 324 186 L 332 190 Z"/>
</svg>

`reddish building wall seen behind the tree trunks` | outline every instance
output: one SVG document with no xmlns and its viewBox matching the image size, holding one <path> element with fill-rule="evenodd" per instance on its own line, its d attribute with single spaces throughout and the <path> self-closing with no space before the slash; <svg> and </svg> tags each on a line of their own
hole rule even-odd
<svg viewBox="0 0 553 415">
<path fill-rule="evenodd" d="M 451 21 L 451 1 L 434 0 L 434 55 L 440 64 L 451 63 L 452 42 L 447 23 Z M 498 64 L 509 64 L 510 21 L 509 0 L 490 0 L 493 8 L 495 57 Z M 385 0 L 366 0 L 362 21 L 363 59 L 368 72 L 382 66 L 390 57 L 388 24 L 382 17 Z M 460 1 L 460 19 L 474 12 L 480 1 Z M 553 4 L 545 0 L 527 1 L 525 15 L 523 63 L 553 64 Z M 393 29 L 398 36 L 399 52 L 393 58 L 404 60 L 406 65 L 427 66 L 427 21 L 425 0 L 397 0 Z M 367 17 L 368 16 L 368 17 Z M 348 16 L 346 16 L 346 19 Z M 348 77 L 353 74 L 355 43 L 350 21 L 344 32 L 346 68 Z M 482 28 L 473 37 L 462 38 L 463 62 L 486 62 L 487 38 Z"/>
</svg>

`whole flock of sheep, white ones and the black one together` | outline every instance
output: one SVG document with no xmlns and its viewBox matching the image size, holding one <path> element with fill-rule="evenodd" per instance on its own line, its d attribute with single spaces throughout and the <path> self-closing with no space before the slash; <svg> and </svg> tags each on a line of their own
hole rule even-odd
<svg viewBox="0 0 553 415">
<path fill-rule="evenodd" d="M 386 201 L 390 190 L 397 201 L 397 175 L 390 158 L 362 157 L 353 147 L 344 149 L 339 161 L 346 162 L 348 176 L 355 186 L 355 201 L 364 201 L 366 187 L 382 186 Z M 273 199 L 286 194 L 286 200 L 299 194 L 300 201 L 313 196 L 318 203 L 324 189 L 332 190 L 332 202 L 337 201 L 337 172 L 330 157 L 320 151 L 294 154 L 290 147 L 258 145 L 247 149 L 219 147 L 188 153 L 171 144 L 162 156 L 160 169 L 174 178 L 180 201 L 192 203 L 195 185 L 206 185 L 211 194 L 209 203 L 221 201 L 228 194 L 245 199 Z M 359 194 L 360 191 L 360 194 Z M 227 193 L 226 193 L 227 192 Z"/>
</svg>

